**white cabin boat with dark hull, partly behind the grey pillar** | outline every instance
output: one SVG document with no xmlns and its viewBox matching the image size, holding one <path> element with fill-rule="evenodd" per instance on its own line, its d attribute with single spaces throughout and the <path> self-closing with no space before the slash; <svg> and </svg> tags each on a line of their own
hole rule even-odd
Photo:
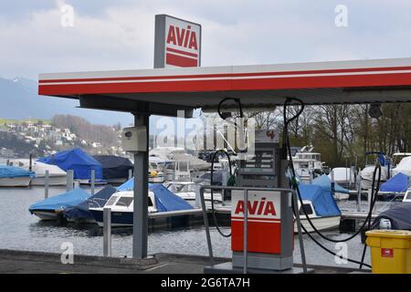
<svg viewBox="0 0 411 292">
<path fill-rule="evenodd" d="M 113 193 L 104 208 L 111 208 L 111 226 L 132 226 L 134 193 L 132 191 L 121 191 Z M 89 209 L 99 226 L 103 225 L 103 207 Z M 149 191 L 149 213 L 156 213 L 154 193 Z"/>
</svg>

